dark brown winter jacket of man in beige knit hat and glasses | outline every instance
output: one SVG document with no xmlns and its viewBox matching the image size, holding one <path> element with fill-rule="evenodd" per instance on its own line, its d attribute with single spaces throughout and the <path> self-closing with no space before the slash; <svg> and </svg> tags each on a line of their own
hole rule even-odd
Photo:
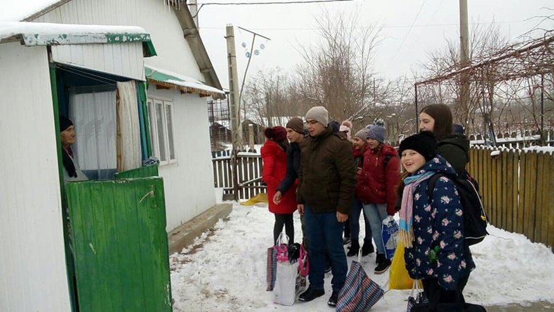
<svg viewBox="0 0 554 312">
<path fill-rule="evenodd" d="M 317 137 L 301 143 L 298 203 L 314 212 L 348 214 L 356 187 L 352 145 L 346 135 L 328 127 Z"/>
</svg>

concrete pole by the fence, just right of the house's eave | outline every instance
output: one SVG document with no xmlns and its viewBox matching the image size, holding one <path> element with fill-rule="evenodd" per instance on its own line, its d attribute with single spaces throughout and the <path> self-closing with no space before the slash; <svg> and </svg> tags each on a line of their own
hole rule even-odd
<svg viewBox="0 0 554 312">
<path fill-rule="evenodd" d="M 233 25 L 227 25 L 225 38 L 227 40 L 227 64 L 229 67 L 229 107 L 231 108 L 233 150 L 240 150 L 242 149 L 242 127 L 240 125 L 237 55 Z"/>
</svg>

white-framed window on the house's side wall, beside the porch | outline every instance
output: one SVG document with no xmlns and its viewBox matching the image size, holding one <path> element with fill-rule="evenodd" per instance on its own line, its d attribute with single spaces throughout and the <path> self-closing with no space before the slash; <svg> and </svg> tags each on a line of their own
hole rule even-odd
<svg viewBox="0 0 554 312">
<path fill-rule="evenodd" d="M 154 154 L 154 157 L 157 157 L 160 161 L 160 166 L 167 165 L 167 164 L 175 164 L 177 163 L 177 150 L 175 148 L 175 123 L 173 122 L 175 118 L 173 115 L 175 114 L 175 111 L 173 110 L 173 102 L 169 99 L 164 98 L 148 98 L 148 118 L 150 119 L 150 141 L 152 142 L 152 154 Z M 158 133 L 158 119 L 157 119 L 157 111 L 156 111 L 156 105 L 161 105 L 161 121 L 163 123 L 163 141 L 164 141 L 164 151 L 166 154 L 165 160 L 161 159 L 161 153 L 160 153 L 160 144 L 159 144 L 159 133 Z M 169 108 L 171 112 L 171 120 L 170 124 L 172 126 L 171 128 L 171 137 L 173 138 L 172 141 L 170 141 L 169 136 L 169 129 L 168 129 L 168 120 L 167 120 L 167 114 L 166 110 Z M 172 144 L 173 147 L 173 158 L 171 158 L 170 154 L 170 144 Z"/>
</svg>

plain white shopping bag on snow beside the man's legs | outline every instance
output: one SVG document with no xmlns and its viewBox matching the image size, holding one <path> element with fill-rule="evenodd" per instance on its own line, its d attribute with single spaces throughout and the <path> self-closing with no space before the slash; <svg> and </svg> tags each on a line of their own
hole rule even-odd
<svg viewBox="0 0 554 312">
<path fill-rule="evenodd" d="M 277 279 L 275 281 L 274 302 L 292 306 L 296 300 L 296 277 L 298 277 L 298 261 L 277 261 Z"/>
</svg>

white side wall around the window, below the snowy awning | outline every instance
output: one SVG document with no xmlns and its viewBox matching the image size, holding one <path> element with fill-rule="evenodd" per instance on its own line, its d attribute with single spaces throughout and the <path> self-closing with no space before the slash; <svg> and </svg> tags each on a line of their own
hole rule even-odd
<svg viewBox="0 0 554 312">
<path fill-rule="evenodd" d="M 159 167 L 166 191 L 168 232 L 215 205 L 206 99 L 150 85 L 148 97 L 173 103 L 177 163 Z"/>
</svg>

